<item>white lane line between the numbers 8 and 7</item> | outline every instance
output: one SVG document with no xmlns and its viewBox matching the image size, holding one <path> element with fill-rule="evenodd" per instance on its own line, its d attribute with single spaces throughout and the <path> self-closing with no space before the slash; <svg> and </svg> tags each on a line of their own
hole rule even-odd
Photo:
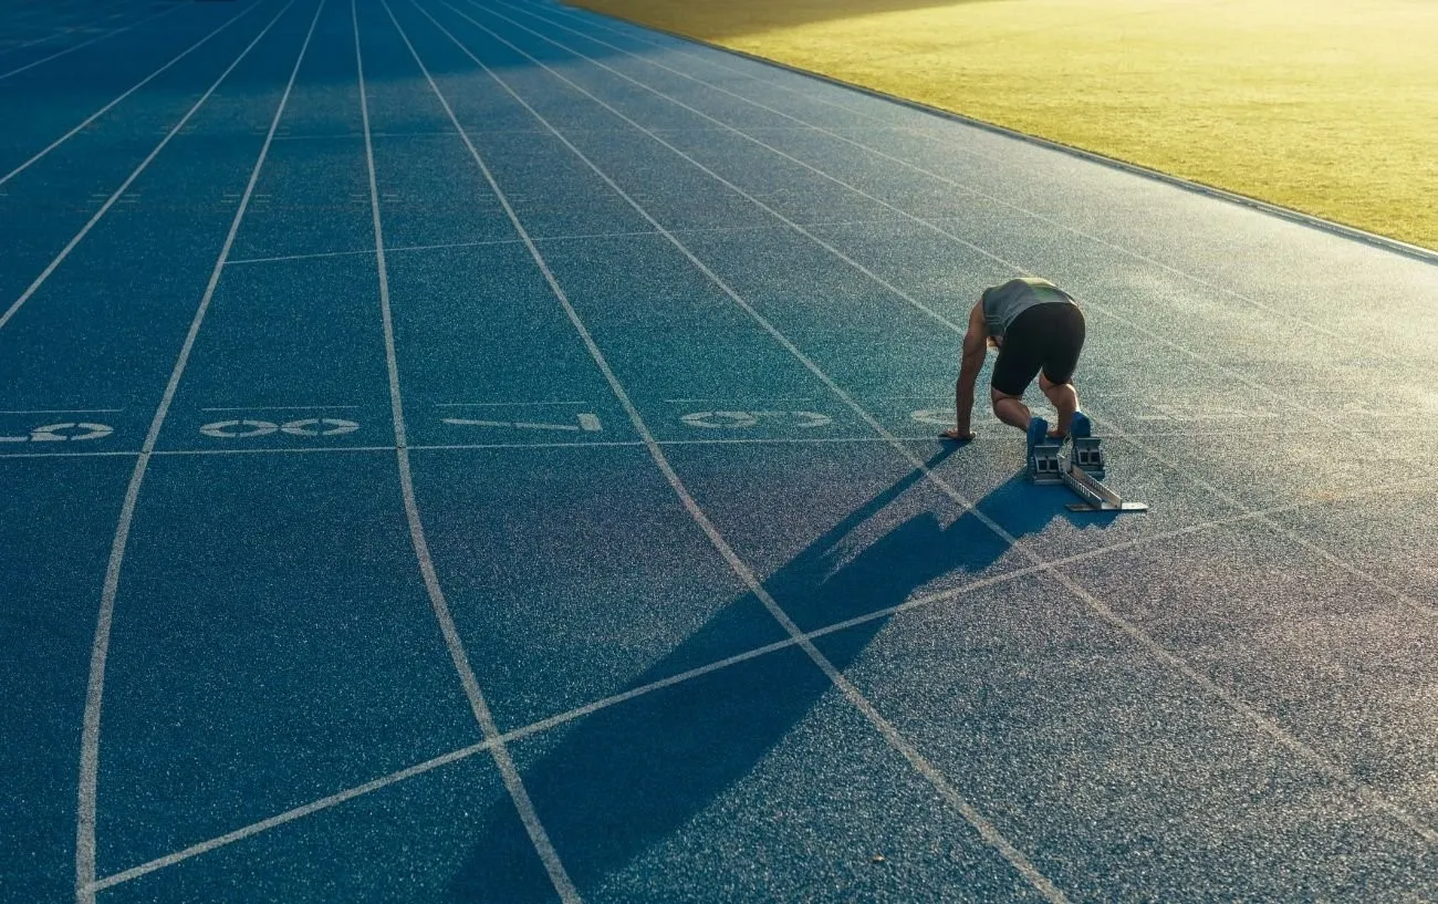
<svg viewBox="0 0 1438 904">
<path fill-rule="evenodd" d="M 384 9 L 390 13 L 390 20 L 394 22 L 394 27 L 400 29 L 400 23 L 394 19 L 394 13 L 390 10 L 388 4 L 384 4 Z M 430 556 L 429 540 L 424 535 L 424 525 L 420 521 L 420 507 L 414 495 L 414 476 L 410 471 L 410 452 L 406 448 L 408 439 L 406 436 L 404 426 L 404 400 L 400 396 L 400 367 L 394 343 L 394 320 L 390 311 L 390 276 L 384 255 L 384 225 L 380 219 L 380 187 L 375 178 L 374 143 L 370 138 L 370 102 L 365 92 L 364 55 L 360 49 L 360 19 L 355 10 L 355 0 L 349 0 L 349 14 L 354 19 L 355 65 L 360 73 L 360 111 L 362 114 L 361 121 L 364 124 L 365 166 L 370 174 L 370 212 L 374 220 L 374 246 L 380 276 L 380 312 L 384 321 L 384 360 L 390 376 L 390 407 L 394 417 L 394 440 L 395 445 L 400 446 L 397 451 L 397 459 L 400 465 L 400 485 L 404 494 L 404 514 L 410 523 L 410 540 L 414 544 L 414 556 L 418 559 L 420 573 L 424 577 L 424 589 L 429 592 L 430 605 L 434 609 L 434 616 L 439 620 L 441 633 L 444 635 L 444 643 L 449 646 L 454 669 L 459 672 L 460 684 L 464 687 L 466 697 L 469 697 L 475 720 L 485 733 L 485 740 L 492 744 L 489 753 L 495 759 L 495 764 L 499 767 L 499 773 L 505 782 L 505 789 L 509 792 L 509 797 L 513 800 L 519 819 L 523 822 L 525 831 L 529 833 L 529 841 L 533 844 L 535 852 L 539 855 L 545 871 L 549 874 L 549 881 L 554 884 L 559 898 L 565 901 L 565 904 L 578 904 L 580 892 L 569 880 L 569 874 L 559 861 L 559 854 L 555 851 L 554 842 L 549 839 L 549 833 L 539 821 L 539 813 L 535 810 L 533 802 L 529 799 L 529 792 L 525 789 L 523 779 L 515 767 L 509 749 L 502 741 L 496 741 L 499 737 L 499 726 L 495 724 L 495 717 L 489 710 L 489 704 L 485 701 L 485 694 L 479 688 L 479 679 L 475 677 L 473 668 L 470 668 L 469 655 L 464 652 L 464 643 L 459 636 L 459 629 L 454 626 L 449 602 L 444 599 L 444 590 L 440 587 L 439 574 L 434 570 L 434 561 Z M 408 46 L 410 39 L 404 35 L 403 29 L 400 29 L 400 35 Z M 410 46 L 410 53 L 414 53 L 413 46 Z M 418 60 L 417 53 L 414 53 L 414 59 Z M 426 78 L 429 78 L 429 71 L 426 71 Z M 430 83 L 433 86 L 433 81 Z"/>
</svg>

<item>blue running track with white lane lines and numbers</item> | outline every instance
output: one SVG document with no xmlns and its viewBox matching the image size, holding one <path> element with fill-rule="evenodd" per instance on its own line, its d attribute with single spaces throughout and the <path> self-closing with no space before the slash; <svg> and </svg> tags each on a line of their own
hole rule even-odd
<svg viewBox="0 0 1438 904">
<path fill-rule="evenodd" d="M 1432 262 L 544 0 L 0 9 L 0 900 L 1438 900 Z M 938 439 L 1022 274 L 1148 514 Z"/>
</svg>

